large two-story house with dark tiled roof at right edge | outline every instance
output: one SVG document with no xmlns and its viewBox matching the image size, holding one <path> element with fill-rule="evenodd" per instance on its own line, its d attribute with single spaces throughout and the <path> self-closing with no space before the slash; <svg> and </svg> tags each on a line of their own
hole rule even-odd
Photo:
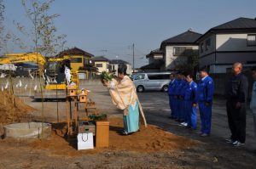
<svg viewBox="0 0 256 169">
<path fill-rule="evenodd" d="M 238 18 L 212 27 L 197 42 L 200 67 L 207 66 L 211 73 L 225 73 L 235 62 L 256 65 L 255 19 Z"/>
</svg>

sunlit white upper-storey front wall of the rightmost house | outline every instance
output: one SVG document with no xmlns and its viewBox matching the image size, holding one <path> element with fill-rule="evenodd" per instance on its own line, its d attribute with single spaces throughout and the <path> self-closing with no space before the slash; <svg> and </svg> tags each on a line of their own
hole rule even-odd
<svg viewBox="0 0 256 169">
<path fill-rule="evenodd" d="M 256 46 L 247 47 L 247 34 L 218 34 L 216 42 L 217 51 L 250 51 Z"/>
</svg>

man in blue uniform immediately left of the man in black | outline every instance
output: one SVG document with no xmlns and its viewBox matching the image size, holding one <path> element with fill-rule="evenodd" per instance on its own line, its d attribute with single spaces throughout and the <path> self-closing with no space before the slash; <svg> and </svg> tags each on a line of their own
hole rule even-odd
<svg viewBox="0 0 256 169">
<path fill-rule="evenodd" d="M 201 118 L 201 137 L 207 137 L 211 133 L 214 85 L 212 78 L 208 76 L 207 68 L 200 70 L 200 77 L 201 80 L 197 87 L 197 101 Z"/>
</svg>

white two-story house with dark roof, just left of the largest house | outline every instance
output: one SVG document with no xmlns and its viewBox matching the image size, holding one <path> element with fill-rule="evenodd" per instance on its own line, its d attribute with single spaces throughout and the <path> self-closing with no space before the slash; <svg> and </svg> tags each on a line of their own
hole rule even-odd
<svg viewBox="0 0 256 169">
<path fill-rule="evenodd" d="M 161 42 L 160 51 L 163 51 L 164 70 L 174 70 L 178 65 L 188 62 L 188 57 L 197 54 L 200 33 L 195 31 L 185 31 L 175 37 L 171 37 Z"/>
</svg>

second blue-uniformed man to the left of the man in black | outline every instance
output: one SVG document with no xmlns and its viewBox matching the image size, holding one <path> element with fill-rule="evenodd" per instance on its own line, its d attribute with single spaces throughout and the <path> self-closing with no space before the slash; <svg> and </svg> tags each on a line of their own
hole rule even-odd
<svg viewBox="0 0 256 169">
<path fill-rule="evenodd" d="M 184 96 L 185 102 L 185 123 L 184 126 L 188 128 L 196 129 L 197 115 L 196 115 L 196 93 L 197 84 L 193 81 L 193 75 L 188 74 L 186 76 L 187 87 Z"/>
</svg>

